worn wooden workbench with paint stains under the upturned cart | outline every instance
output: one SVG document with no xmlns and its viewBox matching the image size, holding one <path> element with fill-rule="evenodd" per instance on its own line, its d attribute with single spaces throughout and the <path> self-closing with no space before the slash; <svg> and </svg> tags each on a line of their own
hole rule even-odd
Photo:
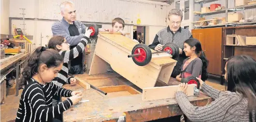
<svg viewBox="0 0 256 122">
<path fill-rule="evenodd" d="M 89 102 L 77 103 L 63 112 L 63 121 L 149 121 L 183 114 L 174 98 L 142 101 L 141 89 L 116 73 L 91 76 L 83 74 L 75 77 L 102 90 L 109 88 L 105 91 L 108 94 L 105 96 L 94 89 L 85 90 L 78 84 L 75 86 L 65 84 L 63 87 L 66 89 L 81 91 L 82 100 Z M 178 83 L 174 78 L 170 78 L 168 85 Z M 132 86 L 134 91 L 123 89 L 124 85 Z M 164 85 L 164 83 L 157 82 L 156 85 Z M 113 92 L 118 91 L 119 86 L 122 90 Z M 165 94 L 168 94 L 168 91 Z M 62 98 L 64 99 L 66 98 Z M 205 106 L 211 102 L 211 98 L 203 93 L 189 97 L 189 100 L 194 106 Z"/>
</svg>

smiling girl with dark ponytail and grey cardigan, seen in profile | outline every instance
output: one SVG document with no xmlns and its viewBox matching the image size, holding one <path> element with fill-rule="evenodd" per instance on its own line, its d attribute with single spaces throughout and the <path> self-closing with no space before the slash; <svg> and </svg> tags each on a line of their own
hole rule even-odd
<svg viewBox="0 0 256 122">
<path fill-rule="evenodd" d="M 207 80 L 209 61 L 206 59 L 201 43 L 194 38 L 188 39 L 184 42 L 183 51 L 188 58 L 183 61 L 181 73 L 176 77 L 177 81 L 189 76 L 201 78 L 203 81 Z"/>
</svg>

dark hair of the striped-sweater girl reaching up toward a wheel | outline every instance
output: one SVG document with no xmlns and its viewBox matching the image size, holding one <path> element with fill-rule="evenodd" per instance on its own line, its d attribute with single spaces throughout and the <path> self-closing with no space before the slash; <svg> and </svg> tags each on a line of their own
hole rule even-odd
<svg viewBox="0 0 256 122">
<path fill-rule="evenodd" d="M 54 36 L 48 42 L 48 48 L 60 51 L 56 46 L 61 45 L 65 41 L 62 36 Z"/>
</svg>

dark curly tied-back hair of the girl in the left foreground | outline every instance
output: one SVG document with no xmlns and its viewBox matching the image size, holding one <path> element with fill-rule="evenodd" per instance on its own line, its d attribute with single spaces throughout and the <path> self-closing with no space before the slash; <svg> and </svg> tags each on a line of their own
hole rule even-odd
<svg viewBox="0 0 256 122">
<path fill-rule="evenodd" d="M 26 84 L 32 76 L 38 73 L 38 66 L 46 64 L 48 68 L 57 67 L 63 62 L 62 56 L 54 49 L 46 49 L 40 46 L 35 49 L 33 54 L 27 57 L 27 63 L 22 72 L 22 83 Z"/>
</svg>

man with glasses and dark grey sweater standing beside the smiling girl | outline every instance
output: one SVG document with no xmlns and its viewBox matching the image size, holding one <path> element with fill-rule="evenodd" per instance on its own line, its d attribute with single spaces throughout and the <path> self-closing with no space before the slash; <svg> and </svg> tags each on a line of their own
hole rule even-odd
<svg viewBox="0 0 256 122">
<path fill-rule="evenodd" d="M 149 48 L 154 49 L 155 51 L 162 51 L 163 46 L 167 43 L 173 42 L 179 47 L 179 57 L 177 64 L 174 67 L 172 77 L 176 78 L 180 74 L 180 67 L 183 63 L 183 60 L 186 59 L 186 55 L 183 51 L 183 43 L 189 38 L 193 38 L 191 32 L 188 29 L 181 28 L 181 21 L 183 18 L 183 13 L 179 9 L 172 9 L 168 13 L 168 27 L 160 30 L 154 38 L 154 41 Z"/>
</svg>

